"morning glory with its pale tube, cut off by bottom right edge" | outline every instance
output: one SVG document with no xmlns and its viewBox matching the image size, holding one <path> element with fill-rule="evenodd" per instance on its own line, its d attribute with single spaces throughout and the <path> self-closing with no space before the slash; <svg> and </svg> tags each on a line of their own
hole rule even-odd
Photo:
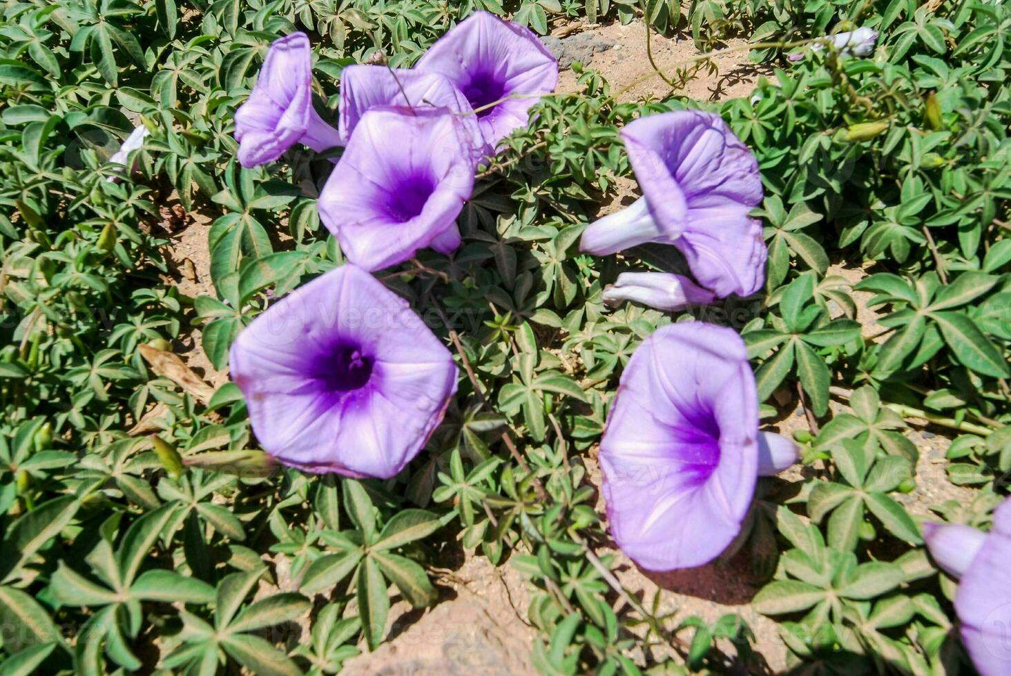
<svg viewBox="0 0 1011 676">
<path fill-rule="evenodd" d="M 983 676 L 1011 673 L 1011 498 L 990 533 L 928 522 L 923 534 L 937 565 L 959 578 L 954 609 L 973 664 Z"/>
</svg>

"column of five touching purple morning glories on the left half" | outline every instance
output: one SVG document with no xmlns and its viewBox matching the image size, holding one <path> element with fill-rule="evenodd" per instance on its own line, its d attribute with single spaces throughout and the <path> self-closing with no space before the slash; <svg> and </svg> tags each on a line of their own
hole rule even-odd
<svg viewBox="0 0 1011 676">
<path fill-rule="evenodd" d="M 232 346 L 232 378 L 269 454 L 308 472 L 388 478 L 422 450 L 457 369 L 407 302 L 369 273 L 426 247 L 460 246 L 456 218 L 477 163 L 527 123 L 557 79 L 532 32 L 476 12 L 415 69 L 345 69 L 335 128 L 312 105 L 308 37 L 271 44 L 236 113 L 239 161 L 274 162 L 295 143 L 345 147 L 318 209 L 350 263 L 271 306 Z"/>
</svg>

